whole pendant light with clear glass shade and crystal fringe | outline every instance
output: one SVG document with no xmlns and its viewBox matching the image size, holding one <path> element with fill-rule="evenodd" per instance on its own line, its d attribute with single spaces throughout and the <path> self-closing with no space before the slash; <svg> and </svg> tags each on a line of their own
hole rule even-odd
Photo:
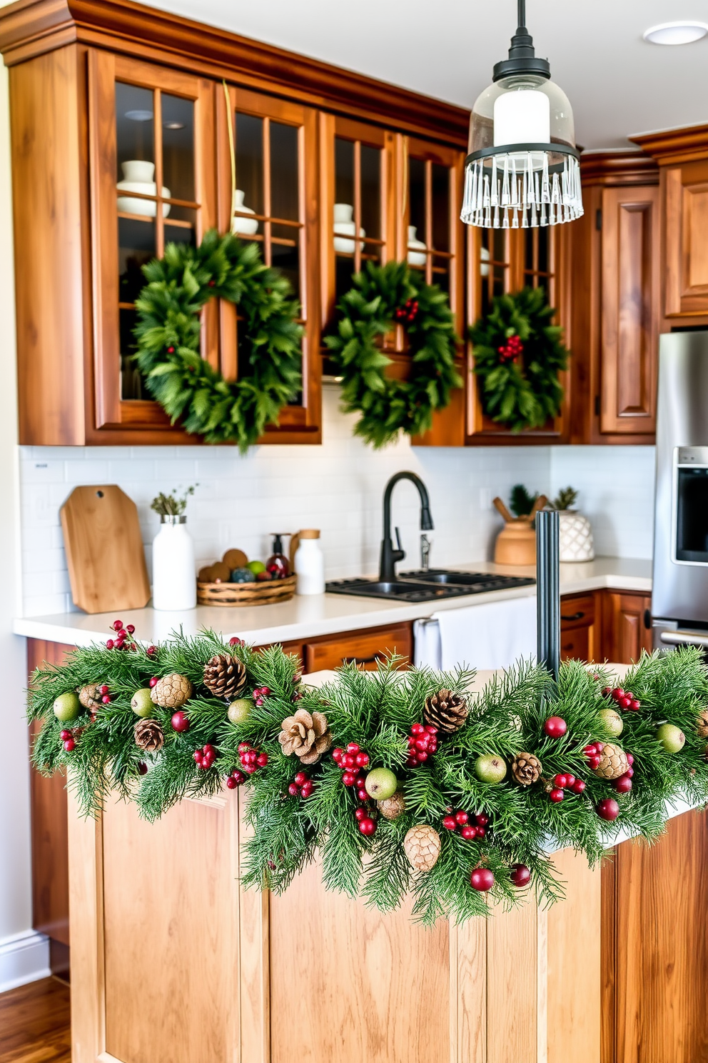
<svg viewBox="0 0 708 1063">
<path fill-rule="evenodd" d="M 469 155 L 461 218 L 483 229 L 536 229 L 583 214 L 580 152 L 568 97 L 534 52 L 525 0 L 508 58 L 469 122 Z"/>
</svg>

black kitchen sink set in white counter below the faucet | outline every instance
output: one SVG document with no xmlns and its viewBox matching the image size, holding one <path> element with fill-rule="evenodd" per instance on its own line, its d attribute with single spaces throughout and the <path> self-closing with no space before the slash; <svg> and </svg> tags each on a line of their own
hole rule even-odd
<svg viewBox="0 0 708 1063">
<path fill-rule="evenodd" d="M 499 576 L 485 572 L 455 572 L 430 569 L 427 572 L 401 572 L 392 581 L 380 579 L 336 579 L 327 584 L 330 594 L 388 598 L 394 602 L 436 602 L 443 598 L 483 594 L 485 591 L 531 587 L 531 576 Z"/>
</svg>

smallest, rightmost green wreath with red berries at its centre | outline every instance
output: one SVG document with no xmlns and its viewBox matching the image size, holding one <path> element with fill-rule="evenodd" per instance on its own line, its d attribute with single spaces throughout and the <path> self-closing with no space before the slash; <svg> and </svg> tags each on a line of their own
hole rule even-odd
<svg viewBox="0 0 708 1063">
<path fill-rule="evenodd" d="M 483 409 L 512 432 L 540 428 L 560 409 L 558 373 L 570 352 L 560 342 L 563 330 L 551 324 L 554 314 L 542 288 L 523 288 L 498 296 L 469 330 Z"/>
</svg>

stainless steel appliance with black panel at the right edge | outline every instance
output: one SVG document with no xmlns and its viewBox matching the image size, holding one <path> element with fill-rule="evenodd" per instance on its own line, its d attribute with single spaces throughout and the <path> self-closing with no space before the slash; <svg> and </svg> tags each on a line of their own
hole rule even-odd
<svg viewBox="0 0 708 1063">
<path fill-rule="evenodd" d="M 652 615 L 655 646 L 708 647 L 708 331 L 659 347 Z"/>
</svg>

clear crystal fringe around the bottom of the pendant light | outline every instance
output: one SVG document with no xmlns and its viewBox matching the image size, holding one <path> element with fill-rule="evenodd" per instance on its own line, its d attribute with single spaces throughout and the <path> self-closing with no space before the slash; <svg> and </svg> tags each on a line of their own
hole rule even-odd
<svg viewBox="0 0 708 1063">
<path fill-rule="evenodd" d="M 583 214 L 581 167 L 574 155 L 549 168 L 538 150 L 468 158 L 460 217 L 483 229 L 537 229 Z"/>
</svg>

